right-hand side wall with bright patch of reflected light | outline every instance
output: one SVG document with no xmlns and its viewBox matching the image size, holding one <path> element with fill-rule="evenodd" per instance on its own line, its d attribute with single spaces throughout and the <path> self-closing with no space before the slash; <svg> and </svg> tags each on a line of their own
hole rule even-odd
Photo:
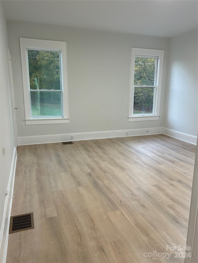
<svg viewBox="0 0 198 263">
<path fill-rule="evenodd" d="M 197 136 L 197 30 L 170 39 L 164 127 Z"/>
</svg>

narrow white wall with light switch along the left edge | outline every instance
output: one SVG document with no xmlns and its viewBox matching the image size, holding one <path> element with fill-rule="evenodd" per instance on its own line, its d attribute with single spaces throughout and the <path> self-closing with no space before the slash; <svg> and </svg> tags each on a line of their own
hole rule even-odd
<svg viewBox="0 0 198 263">
<path fill-rule="evenodd" d="M 0 226 L 2 226 L 6 190 L 11 172 L 14 150 L 10 84 L 7 62 L 7 28 L 0 1 Z M 2 148 L 6 154 L 2 155 Z M 1 240 L 0 240 L 1 241 Z"/>
</svg>

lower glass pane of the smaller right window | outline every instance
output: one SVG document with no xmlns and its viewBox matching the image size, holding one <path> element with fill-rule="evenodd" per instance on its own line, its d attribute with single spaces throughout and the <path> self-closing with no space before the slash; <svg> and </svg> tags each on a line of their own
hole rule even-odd
<svg viewBox="0 0 198 263">
<path fill-rule="evenodd" d="M 133 114 L 153 113 L 154 88 L 134 88 Z"/>
</svg>

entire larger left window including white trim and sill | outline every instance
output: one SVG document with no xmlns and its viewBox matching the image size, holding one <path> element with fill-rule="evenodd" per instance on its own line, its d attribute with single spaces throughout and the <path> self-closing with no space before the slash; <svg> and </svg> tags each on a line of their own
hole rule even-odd
<svg viewBox="0 0 198 263">
<path fill-rule="evenodd" d="M 68 123 L 66 42 L 20 38 L 25 123 Z"/>
</svg>

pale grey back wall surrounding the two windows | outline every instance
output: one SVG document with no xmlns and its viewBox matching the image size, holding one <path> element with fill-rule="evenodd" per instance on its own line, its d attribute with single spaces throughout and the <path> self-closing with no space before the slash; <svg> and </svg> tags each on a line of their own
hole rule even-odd
<svg viewBox="0 0 198 263">
<path fill-rule="evenodd" d="M 37 23 L 7 26 L 19 137 L 163 126 L 169 39 Z M 67 42 L 69 124 L 25 125 L 19 37 Z M 164 50 L 159 121 L 128 122 L 131 47 Z"/>
</svg>

